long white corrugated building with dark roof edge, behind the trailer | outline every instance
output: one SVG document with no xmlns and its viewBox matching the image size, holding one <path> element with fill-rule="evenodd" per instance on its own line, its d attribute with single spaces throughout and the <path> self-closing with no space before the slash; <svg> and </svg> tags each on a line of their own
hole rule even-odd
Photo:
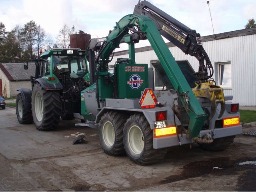
<svg viewBox="0 0 256 192">
<path fill-rule="evenodd" d="M 225 32 L 202 37 L 203 47 L 214 66 L 214 79 L 224 89 L 225 95 L 233 95 L 233 102 L 240 106 L 256 106 L 256 28 Z M 167 43 L 175 60 L 188 60 L 198 71 L 198 60 L 185 55 L 172 43 Z M 128 50 L 116 52 L 110 65 L 117 58 L 128 58 Z M 136 63 L 158 60 L 151 46 L 136 48 Z M 158 88 L 155 73 L 155 87 Z M 159 87 L 160 88 L 160 87 Z"/>
</svg>

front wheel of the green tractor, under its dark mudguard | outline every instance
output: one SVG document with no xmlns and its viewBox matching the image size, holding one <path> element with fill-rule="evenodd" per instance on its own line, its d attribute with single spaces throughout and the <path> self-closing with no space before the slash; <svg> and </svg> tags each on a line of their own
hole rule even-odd
<svg viewBox="0 0 256 192">
<path fill-rule="evenodd" d="M 16 115 L 20 124 L 30 124 L 33 122 L 32 110 L 25 108 L 22 94 L 16 96 Z"/>
</svg>

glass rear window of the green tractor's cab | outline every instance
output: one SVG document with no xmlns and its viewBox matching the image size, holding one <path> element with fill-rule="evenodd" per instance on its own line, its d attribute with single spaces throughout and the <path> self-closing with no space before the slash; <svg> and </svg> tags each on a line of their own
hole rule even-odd
<svg viewBox="0 0 256 192">
<path fill-rule="evenodd" d="M 87 73 L 83 56 L 53 56 L 53 64 L 56 75 L 65 73 L 71 78 L 82 78 Z"/>
</svg>

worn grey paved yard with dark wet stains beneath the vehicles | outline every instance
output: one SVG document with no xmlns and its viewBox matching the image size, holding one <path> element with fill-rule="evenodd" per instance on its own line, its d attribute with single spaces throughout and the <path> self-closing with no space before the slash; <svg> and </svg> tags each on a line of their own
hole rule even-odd
<svg viewBox="0 0 256 192">
<path fill-rule="evenodd" d="M 0 110 L 0 191 L 255 191 L 256 137 L 238 135 L 226 150 L 197 144 L 168 149 L 155 165 L 100 148 L 98 132 L 61 121 L 40 132 L 18 123 L 15 109 Z M 256 127 L 244 128 L 244 131 Z M 76 133 L 88 143 L 72 145 Z"/>
</svg>

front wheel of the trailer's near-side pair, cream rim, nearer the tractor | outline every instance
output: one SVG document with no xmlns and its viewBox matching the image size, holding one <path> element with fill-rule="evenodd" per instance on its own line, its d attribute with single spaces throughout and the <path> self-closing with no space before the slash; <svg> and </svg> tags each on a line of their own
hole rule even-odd
<svg viewBox="0 0 256 192">
<path fill-rule="evenodd" d="M 106 112 L 99 123 L 100 146 L 111 156 L 124 155 L 123 127 L 126 116 L 110 111 Z"/>
</svg>

